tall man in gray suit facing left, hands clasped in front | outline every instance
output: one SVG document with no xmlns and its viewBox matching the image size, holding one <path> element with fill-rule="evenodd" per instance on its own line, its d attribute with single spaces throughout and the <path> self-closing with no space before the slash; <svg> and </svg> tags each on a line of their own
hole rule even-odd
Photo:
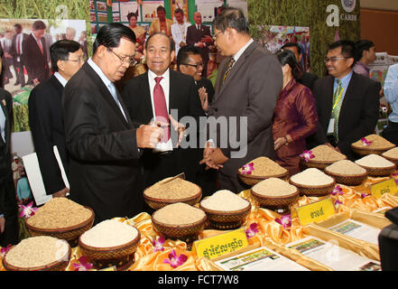
<svg viewBox="0 0 398 289">
<path fill-rule="evenodd" d="M 273 109 L 282 89 L 282 69 L 275 56 L 250 37 L 240 9 L 225 9 L 213 27 L 216 46 L 227 59 L 220 63 L 208 109 L 209 136 L 216 139 L 209 139 L 200 163 L 218 169 L 221 189 L 239 192 L 246 188 L 236 175 L 242 165 L 259 156 L 274 158 Z M 216 126 L 223 120 L 228 127 Z"/>
</svg>

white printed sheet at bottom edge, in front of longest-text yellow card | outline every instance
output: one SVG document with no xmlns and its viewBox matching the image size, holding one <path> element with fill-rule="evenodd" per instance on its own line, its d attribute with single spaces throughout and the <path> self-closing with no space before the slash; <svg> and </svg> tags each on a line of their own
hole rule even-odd
<svg viewBox="0 0 398 289">
<path fill-rule="evenodd" d="M 310 271 L 267 247 L 257 247 L 214 263 L 226 271 Z"/>
</svg>

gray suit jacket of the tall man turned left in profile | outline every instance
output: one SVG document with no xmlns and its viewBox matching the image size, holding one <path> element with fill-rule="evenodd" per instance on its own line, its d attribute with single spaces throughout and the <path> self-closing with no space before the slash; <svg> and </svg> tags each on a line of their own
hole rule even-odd
<svg viewBox="0 0 398 289">
<path fill-rule="evenodd" d="M 256 157 L 273 159 L 273 109 L 282 89 L 282 66 L 271 52 L 253 42 L 236 61 L 223 84 L 229 60 L 221 62 L 218 69 L 216 94 L 208 110 L 208 132 L 217 132 L 217 146 L 230 158 L 221 172 L 236 177 L 237 170 Z M 227 132 L 219 127 L 214 129 L 214 126 L 212 130 L 211 117 L 216 117 L 217 121 L 227 117 L 229 123 L 233 120 L 231 117 L 236 117 L 237 126 L 228 126 Z M 226 138 L 232 142 L 223 145 Z M 236 140 L 239 145 L 234 144 Z"/>
</svg>

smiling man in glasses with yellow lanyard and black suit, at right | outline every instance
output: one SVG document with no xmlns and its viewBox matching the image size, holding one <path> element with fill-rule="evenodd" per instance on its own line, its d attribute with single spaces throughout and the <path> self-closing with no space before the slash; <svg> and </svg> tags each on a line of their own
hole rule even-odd
<svg viewBox="0 0 398 289">
<path fill-rule="evenodd" d="M 379 115 L 377 83 L 353 71 L 355 43 L 341 40 L 329 45 L 325 59 L 329 75 L 315 81 L 318 132 L 310 144 L 328 144 L 350 160 L 357 155 L 351 144 L 373 134 Z"/>
</svg>

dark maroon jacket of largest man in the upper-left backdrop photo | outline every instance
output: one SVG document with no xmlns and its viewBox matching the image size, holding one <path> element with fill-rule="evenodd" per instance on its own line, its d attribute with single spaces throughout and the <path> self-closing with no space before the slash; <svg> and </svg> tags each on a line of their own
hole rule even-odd
<svg viewBox="0 0 398 289">
<path fill-rule="evenodd" d="M 23 40 L 23 63 L 28 71 L 29 79 L 39 79 L 40 82 L 49 78 L 49 65 L 47 62 L 47 49 L 44 36 L 41 39 L 43 53 L 30 34 Z"/>
</svg>

